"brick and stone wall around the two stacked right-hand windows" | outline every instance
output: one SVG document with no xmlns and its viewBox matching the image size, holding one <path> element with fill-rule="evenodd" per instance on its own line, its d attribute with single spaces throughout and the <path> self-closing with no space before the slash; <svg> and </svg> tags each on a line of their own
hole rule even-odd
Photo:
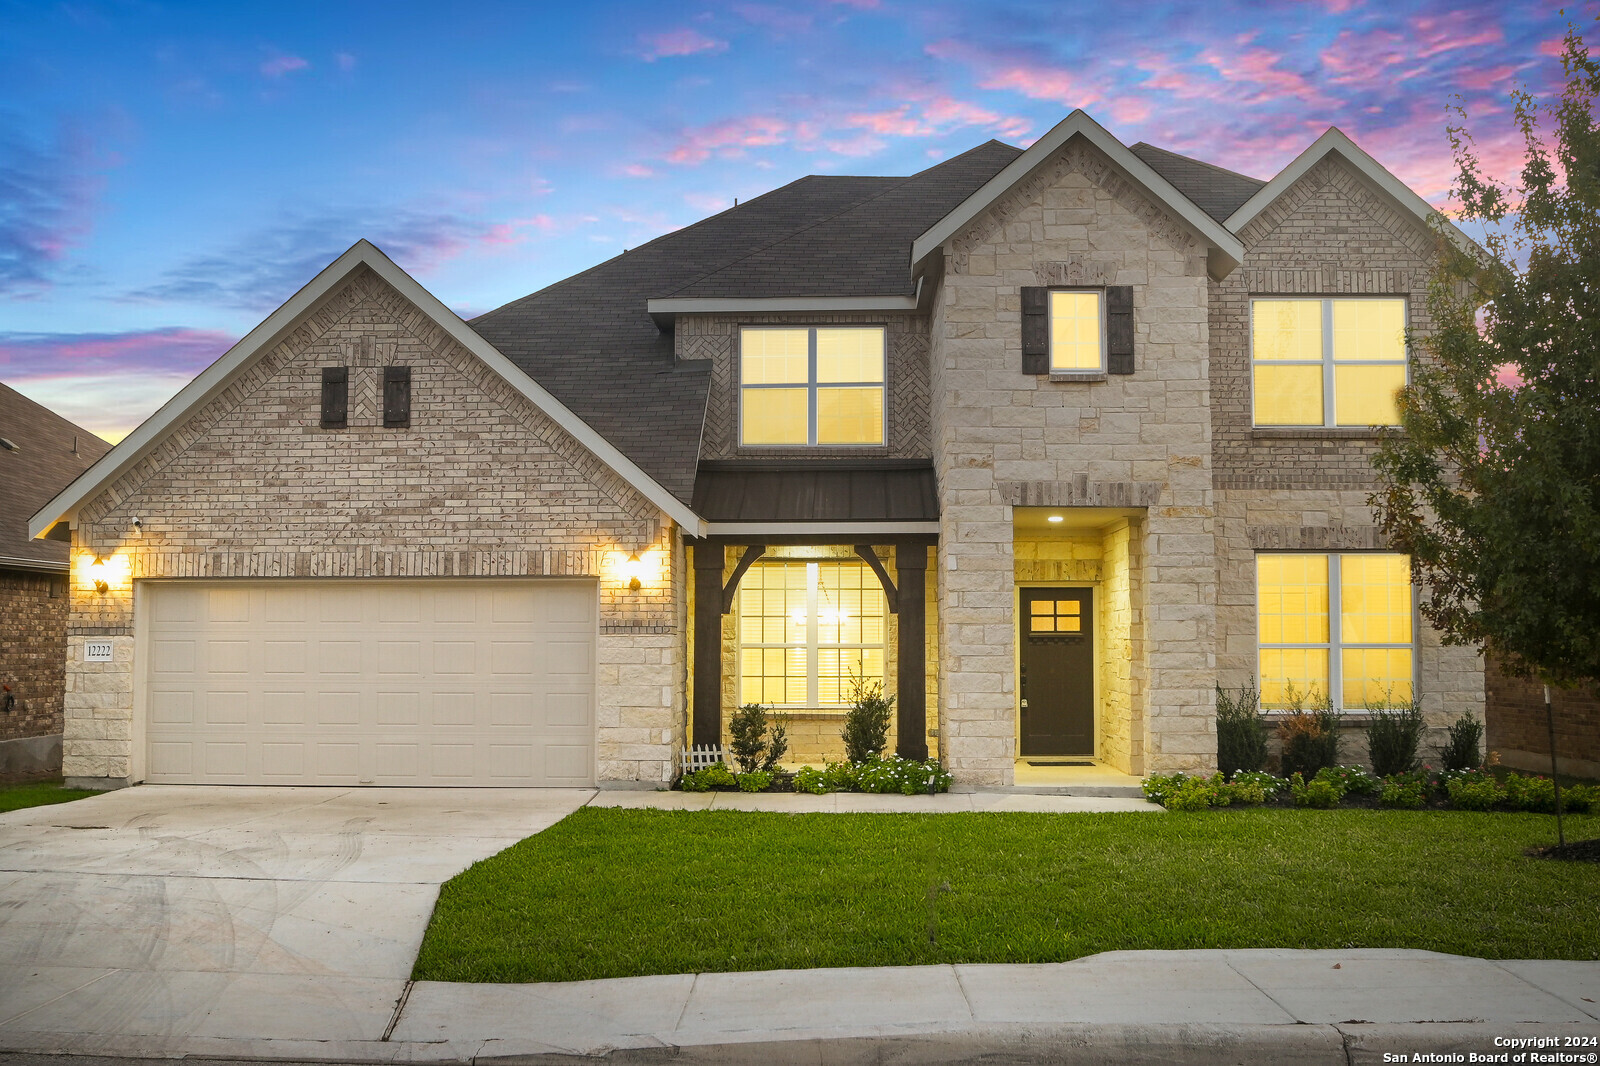
<svg viewBox="0 0 1600 1066">
<path fill-rule="evenodd" d="M 1256 675 L 1259 549 L 1334 552 L 1386 547 L 1366 498 L 1376 439 L 1366 429 L 1253 429 L 1250 296 L 1405 296 L 1410 323 L 1429 327 L 1426 291 L 1434 235 L 1358 171 L 1334 157 L 1240 232 L 1243 264 L 1211 283 L 1213 469 L 1218 507 L 1218 682 Z M 1416 352 L 1413 352 L 1413 357 Z M 1424 749 L 1448 722 L 1483 712 L 1474 648 L 1418 631 L 1418 682 L 1429 725 Z M 1360 749 L 1350 741 L 1350 757 Z"/>
</svg>

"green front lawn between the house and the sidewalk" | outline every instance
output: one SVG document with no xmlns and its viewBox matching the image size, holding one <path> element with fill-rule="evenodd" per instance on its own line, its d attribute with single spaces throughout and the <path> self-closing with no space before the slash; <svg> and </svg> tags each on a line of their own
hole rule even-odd
<svg viewBox="0 0 1600 1066">
<path fill-rule="evenodd" d="M 1570 816 L 1568 839 L 1600 836 Z M 413 976 L 1061 962 L 1131 948 L 1600 959 L 1547 815 L 778 815 L 586 807 L 445 884 Z M 930 890 L 938 943 L 930 943 Z"/>
</svg>

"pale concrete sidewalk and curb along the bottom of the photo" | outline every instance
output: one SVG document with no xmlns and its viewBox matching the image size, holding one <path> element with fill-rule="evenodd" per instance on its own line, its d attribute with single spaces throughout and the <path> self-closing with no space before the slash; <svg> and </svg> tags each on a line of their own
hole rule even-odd
<svg viewBox="0 0 1600 1066">
<path fill-rule="evenodd" d="M 350 1039 L 338 1015 L 357 1005 L 339 1002 L 235 1005 L 226 1032 L 205 1020 L 190 1032 L 82 1032 L 62 1015 L 35 1029 L 24 1015 L 0 1028 L 0 1045 L 112 1058 L 779 1066 L 1493 1061 L 1470 1055 L 1502 1052 L 1518 1061 L 1546 1040 L 1542 1053 L 1578 1058 L 1520 1061 L 1592 1063 L 1600 1048 L 1584 1042 L 1600 1037 L 1597 1000 L 1597 962 L 1118 951 L 1045 965 L 422 981 L 406 986 L 378 1039 Z"/>
</svg>

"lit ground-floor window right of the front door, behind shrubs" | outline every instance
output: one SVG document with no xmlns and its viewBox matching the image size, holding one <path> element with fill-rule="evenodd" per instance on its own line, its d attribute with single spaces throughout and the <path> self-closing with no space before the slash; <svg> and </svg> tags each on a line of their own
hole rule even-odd
<svg viewBox="0 0 1600 1066">
<path fill-rule="evenodd" d="M 1291 690 L 1344 709 L 1411 699 L 1413 615 L 1406 555 L 1256 555 L 1261 706 L 1288 706 Z"/>
</svg>

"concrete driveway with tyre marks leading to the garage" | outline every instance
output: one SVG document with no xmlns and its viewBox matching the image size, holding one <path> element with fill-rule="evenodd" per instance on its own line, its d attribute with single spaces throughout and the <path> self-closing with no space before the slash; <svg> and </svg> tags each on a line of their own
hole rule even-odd
<svg viewBox="0 0 1600 1066">
<path fill-rule="evenodd" d="M 139 786 L 0 815 L 0 1048 L 381 1040 L 438 885 L 592 797 Z"/>
</svg>

